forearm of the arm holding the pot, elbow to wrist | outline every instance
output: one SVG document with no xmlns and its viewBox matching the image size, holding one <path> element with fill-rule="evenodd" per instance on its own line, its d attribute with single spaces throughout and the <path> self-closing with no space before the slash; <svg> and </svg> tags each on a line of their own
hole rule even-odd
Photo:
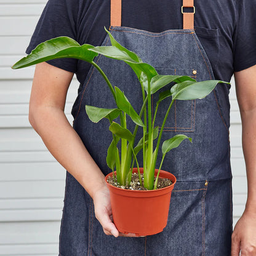
<svg viewBox="0 0 256 256">
<path fill-rule="evenodd" d="M 30 111 L 30 122 L 50 153 L 94 198 L 105 186 L 104 175 L 90 156 L 63 110 L 38 106 Z"/>
</svg>

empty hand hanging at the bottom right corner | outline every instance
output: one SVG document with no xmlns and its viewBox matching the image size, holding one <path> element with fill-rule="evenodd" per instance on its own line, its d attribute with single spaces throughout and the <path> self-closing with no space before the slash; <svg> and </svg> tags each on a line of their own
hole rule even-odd
<svg viewBox="0 0 256 256">
<path fill-rule="evenodd" d="M 245 211 L 231 239 L 231 256 L 256 256 L 256 212 Z"/>
</svg>

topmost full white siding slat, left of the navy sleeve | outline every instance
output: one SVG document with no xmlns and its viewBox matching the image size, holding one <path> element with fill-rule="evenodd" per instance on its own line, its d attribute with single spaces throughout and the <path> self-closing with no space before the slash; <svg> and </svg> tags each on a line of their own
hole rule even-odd
<svg viewBox="0 0 256 256">
<path fill-rule="evenodd" d="M 22 1 L 20 1 L 22 2 Z M 44 4 L 1 4 L 0 16 L 37 16 L 41 15 Z"/>
</svg>

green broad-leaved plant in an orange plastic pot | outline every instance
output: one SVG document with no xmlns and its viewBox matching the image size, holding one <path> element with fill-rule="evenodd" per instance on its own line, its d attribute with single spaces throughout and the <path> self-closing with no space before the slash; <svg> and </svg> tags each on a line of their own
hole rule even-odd
<svg viewBox="0 0 256 256">
<path fill-rule="evenodd" d="M 121 46 L 107 30 L 106 32 L 110 36 L 111 46 L 94 47 L 89 44 L 80 46 L 71 38 L 54 38 L 39 44 L 30 55 L 19 60 L 12 68 L 23 68 L 54 58 L 78 58 L 89 62 L 102 74 L 116 102 L 116 108 L 105 109 L 88 105 L 85 107 L 91 121 L 99 122 L 103 118 L 110 121 L 109 130 L 113 134 L 113 140 L 108 148 L 106 162 L 112 172 L 106 176 L 106 182 L 110 189 L 114 223 L 122 233 L 135 233 L 140 236 L 156 234 L 161 232 L 167 224 L 170 194 L 176 182 L 174 175 L 161 170 L 162 162 L 166 154 L 173 148 L 177 148 L 183 140 L 188 139 L 191 142 L 191 138 L 182 134 L 161 142 L 164 124 L 170 109 L 175 100 L 194 100 L 206 97 L 222 81 L 196 82 L 189 76 L 158 74 L 153 66 L 144 63 L 137 54 Z M 106 74 L 94 62 L 98 54 L 126 62 L 134 70 L 142 88 L 143 104 L 140 113 L 134 110 L 124 92 L 112 86 Z M 169 85 L 170 82 L 174 82 L 174 86 L 159 94 L 158 102 L 153 108 L 151 95 Z M 167 99 L 170 104 L 159 131 L 159 127 L 154 127 L 154 122 L 159 104 Z M 127 129 L 127 116 L 135 124 L 132 131 Z M 138 129 L 143 129 L 143 136 L 135 145 Z M 156 146 L 154 146 L 154 140 L 156 140 Z M 161 143 L 162 160 L 156 169 L 156 159 Z M 143 154 L 143 168 L 139 167 L 137 159 L 140 150 Z M 124 189 L 126 186 L 130 187 L 132 173 L 137 173 L 137 183 L 143 185 L 143 190 Z M 159 177 L 169 178 L 172 184 L 158 189 Z M 108 183 L 108 179 L 113 181 L 114 186 Z M 141 220 L 138 220 L 139 216 L 142 216 Z"/>
</svg>

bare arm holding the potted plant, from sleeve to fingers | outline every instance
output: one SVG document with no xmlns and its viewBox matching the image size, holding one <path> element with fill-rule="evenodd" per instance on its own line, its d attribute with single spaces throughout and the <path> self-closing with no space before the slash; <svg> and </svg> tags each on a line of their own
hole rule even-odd
<svg viewBox="0 0 256 256">
<path fill-rule="evenodd" d="M 64 114 L 72 78 L 73 73 L 47 63 L 36 65 L 30 97 L 30 123 L 50 153 L 90 194 L 104 232 L 117 237 L 118 230 L 110 218 L 110 196 L 105 177 Z"/>
</svg>

